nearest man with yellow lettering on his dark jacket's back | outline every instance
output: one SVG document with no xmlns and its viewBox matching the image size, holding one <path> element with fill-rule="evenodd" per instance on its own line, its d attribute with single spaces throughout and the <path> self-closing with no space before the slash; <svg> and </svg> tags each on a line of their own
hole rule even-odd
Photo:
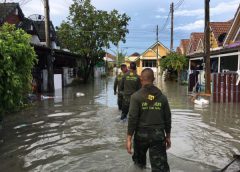
<svg viewBox="0 0 240 172">
<path fill-rule="evenodd" d="M 131 96 L 127 151 L 132 154 L 132 136 L 134 135 L 132 156 L 136 165 L 146 166 L 146 153 L 153 172 L 169 172 L 166 149 L 171 147 L 171 111 L 167 98 L 153 85 L 152 69 L 141 73 L 142 88 Z"/>
</svg>

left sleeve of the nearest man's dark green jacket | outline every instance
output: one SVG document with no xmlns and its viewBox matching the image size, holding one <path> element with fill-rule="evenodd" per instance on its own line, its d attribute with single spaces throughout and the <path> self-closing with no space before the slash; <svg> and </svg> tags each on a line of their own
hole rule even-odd
<svg viewBox="0 0 240 172">
<path fill-rule="evenodd" d="M 140 113 L 139 109 L 140 104 L 138 103 L 137 97 L 135 95 L 131 96 L 128 113 L 128 136 L 132 136 L 137 128 Z"/>
</svg>

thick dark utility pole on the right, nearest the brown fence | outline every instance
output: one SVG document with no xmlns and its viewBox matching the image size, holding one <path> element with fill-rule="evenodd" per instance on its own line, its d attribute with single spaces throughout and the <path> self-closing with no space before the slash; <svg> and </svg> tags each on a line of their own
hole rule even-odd
<svg viewBox="0 0 240 172">
<path fill-rule="evenodd" d="M 205 93 L 211 94 L 210 84 L 210 15 L 209 15 L 209 3 L 210 0 L 205 0 L 205 29 L 204 29 L 204 62 L 205 62 Z"/>
</svg>

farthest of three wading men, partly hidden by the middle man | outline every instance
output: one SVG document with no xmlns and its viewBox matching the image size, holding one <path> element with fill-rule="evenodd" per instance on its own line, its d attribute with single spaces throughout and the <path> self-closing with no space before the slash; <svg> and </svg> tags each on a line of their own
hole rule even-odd
<svg viewBox="0 0 240 172">
<path fill-rule="evenodd" d="M 123 101 L 123 93 L 120 91 L 120 85 L 122 82 L 122 77 L 125 73 L 127 73 L 128 69 L 127 69 L 127 65 L 126 64 L 122 64 L 121 65 L 121 73 L 116 76 L 115 81 L 114 81 L 114 95 L 116 95 L 118 93 L 118 109 L 122 110 L 122 101 Z M 118 89 L 118 91 L 117 91 Z"/>
</svg>

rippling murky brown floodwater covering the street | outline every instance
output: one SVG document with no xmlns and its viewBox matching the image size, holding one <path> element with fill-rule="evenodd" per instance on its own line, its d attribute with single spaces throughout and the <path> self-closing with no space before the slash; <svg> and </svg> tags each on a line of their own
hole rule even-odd
<svg viewBox="0 0 240 172">
<path fill-rule="evenodd" d="M 221 169 L 240 152 L 240 105 L 195 106 L 187 87 L 163 82 L 172 109 L 173 172 Z M 77 97 L 76 93 L 84 93 Z M 0 171 L 138 172 L 125 150 L 127 123 L 113 95 L 113 78 L 69 87 L 55 99 L 5 119 Z M 228 171 L 240 170 L 236 161 Z M 145 170 L 150 170 L 148 167 Z"/>
</svg>

